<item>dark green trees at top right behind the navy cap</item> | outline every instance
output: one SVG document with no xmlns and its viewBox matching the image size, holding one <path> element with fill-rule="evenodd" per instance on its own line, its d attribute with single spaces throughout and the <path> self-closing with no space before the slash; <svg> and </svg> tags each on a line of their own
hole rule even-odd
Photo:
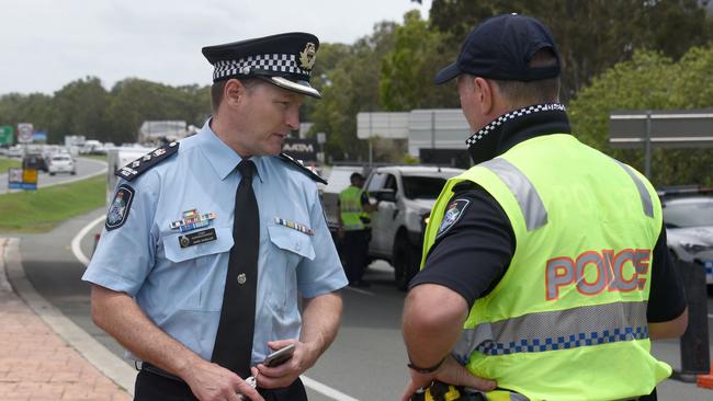
<svg viewBox="0 0 713 401">
<path fill-rule="evenodd" d="M 550 27 L 562 54 L 565 100 L 636 49 L 678 59 L 713 34 L 713 23 L 697 0 L 433 0 L 430 19 L 455 48 L 479 21 L 509 12 L 534 16 Z"/>
</svg>

